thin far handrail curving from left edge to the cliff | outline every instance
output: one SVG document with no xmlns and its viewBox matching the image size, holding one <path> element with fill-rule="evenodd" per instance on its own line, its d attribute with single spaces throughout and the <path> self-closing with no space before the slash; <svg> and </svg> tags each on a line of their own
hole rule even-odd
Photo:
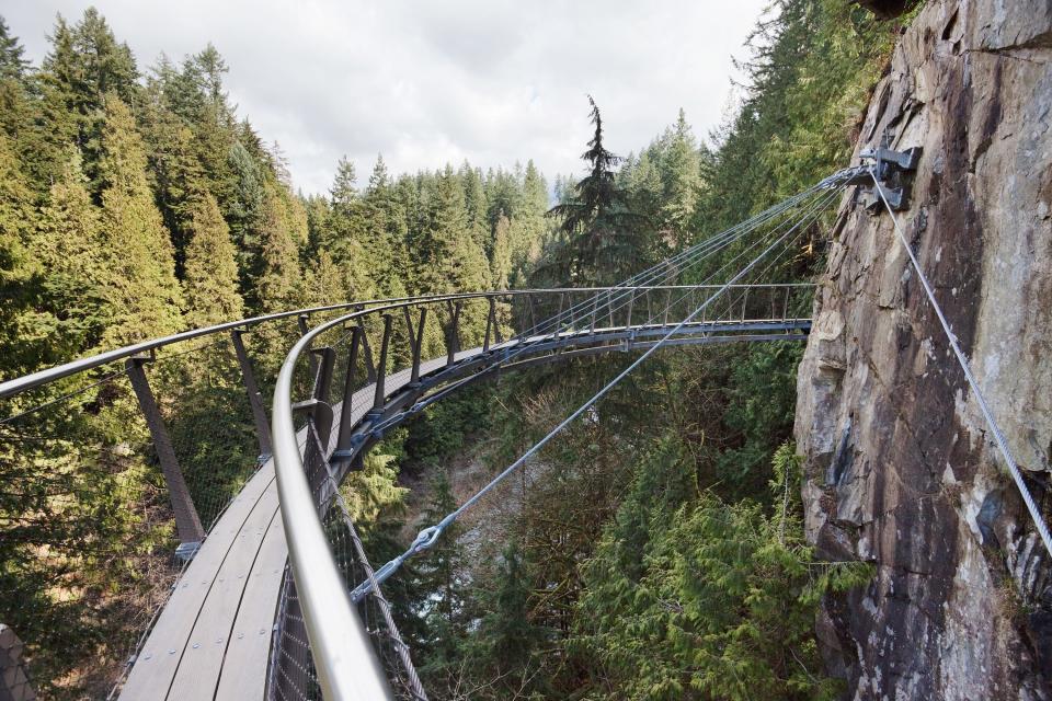
<svg viewBox="0 0 1052 701">
<path fill-rule="evenodd" d="M 352 309 L 355 307 L 366 306 L 366 304 L 391 304 L 404 302 L 401 306 L 408 303 L 419 303 L 419 302 L 431 302 L 431 301 L 445 301 L 450 300 L 455 301 L 458 299 L 472 299 L 479 297 L 515 297 L 518 295 L 542 295 L 542 294 L 570 294 L 570 292 L 603 292 L 610 290 L 632 290 L 632 289 L 686 289 L 686 288 L 714 288 L 713 285 L 640 285 L 640 286 L 611 286 L 611 287 L 559 287 L 559 288 L 547 288 L 547 289 L 508 289 L 508 290 L 494 290 L 487 292 L 462 292 L 462 294 L 453 294 L 453 295 L 421 295 L 418 297 L 390 297 L 382 299 L 369 299 L 364 301 L 352 301 L 352 302 L 341 302 L 339 304 L 328 304 L 324 307 L 308 307 L 304 309 L 296 309 L 291 311 L 276 312 L 273 314 L 262 314 L 260 317 L 251 317 L 249 319 L 241 319 L 239 321 L 228 321 L 221 324 L 215 324 L 211 326 L 204 326 L 202 329 L 192 329 L 190 331 L 183 331 L 176 334 L 169 336 L 161 336 L 158 338 L 152 338 L 150 341 L 144 341 L 141 343 L 136 343 L 133 345 L 124 346 L 121 348 L 114 348 L 113 350 L 106 350 L 87 358 L 79 358 L 77 360 L 71 360 L 62 365 L 57 365 L 52 368 L 44 370 L 38 370 L 36 372 L 31 372 L 30 375 L 24 375 L 5 382 L 0 382 L 0 399 L 8 399 L 31 390 L 55 380 L 60 380 L 65 377 L 71 375 L 77 375 L 78 372 L 83 372 L 84 370 L 91 370 L 93 368 L 107 365 L 115 360 L 123 360 L 125 358 L 130 358 L 133 356 L 140 355 L 142 353 L 148 353 L 150 350 L 157 350 L 164 346 L 169 346 L 175 343 L 181 343 L 183 341 L 192 341 L 194 338 L 201 338 L 203 336 L 209 336 L 222 331 L 231 331 L 233 329 L 240 327 L 250 327 L 255 326 L 267 321 L 277 321 L 281 319 L 288 319 L 291 317 L 299 317 L 302 314 L 312 315 L 319 314 L 328 311 L 338 311 L 341 309 Z M 786 284 L 764 284 L 764 285 L 734 285 L 735 287 L 813 287 L 809 283 L 786 283 Z M 400 308 L 400 307 L 396 307 Z M 375 311 L 376 308 L 373 309 Z"/>
</svg>

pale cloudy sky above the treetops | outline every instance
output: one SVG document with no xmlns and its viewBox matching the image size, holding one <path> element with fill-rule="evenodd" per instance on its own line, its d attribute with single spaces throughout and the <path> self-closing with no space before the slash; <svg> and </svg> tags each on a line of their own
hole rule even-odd
<svg viewBox="0 0 1052 701">
<path fill-rule="evenodd" d="M 704 138 L 732 108 L 732 57 L 747 57 L 766 3 L 2 0 L 0 15 L 37 65 L 56 13 L 90 4 L 140 70 L 211 42 L 239 116 L 279 143 L 309 194 L 329 189 L 342 156 L 359 184 L 377 153 L 395 173 L 533 159 L 549 181 L 580 174 L 587 94 L 616 153 L 644 148 L 681 107 Z"/>
</svg>

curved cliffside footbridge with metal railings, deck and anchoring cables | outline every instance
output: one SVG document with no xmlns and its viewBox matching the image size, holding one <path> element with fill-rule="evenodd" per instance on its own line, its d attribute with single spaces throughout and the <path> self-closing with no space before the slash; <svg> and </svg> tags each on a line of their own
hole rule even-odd
<svg viewBox="0 0 1052 701">
<path fill-rule="evenodd" d="M 145 427 L 163 476 L 163 498 L 142 496 L 146 516 L 133 528 L 174 524 L 179 547 L 175 564 L 159 567 L 151 583 L 125 583 L 126 589 L 92 600 L 87 616 L 118 612 L 132 621 L 121 630 L 141 632 L 126 662 L 110 670 L 116 677 L 107 686 L 110 698 L 426 699 L 412 651 L 384 597 L 385 582 L 466 510 L 499 494 L 510 474 L 655 352 L 804 341 L 813 286 L 771 277 L 847 188 L 866 186 L 867 206 L 891 217 L 905 207 L 895 181 L 915 166 L 918 154 L 880 148 L 864 156 L 866 164 L 841 171 L 617 286 L 431 295 L 296 310 L 158 338 L 4 382 L 0 399 L 12 411 L 0 421 L 0 458 L 21 466 L 12 474 L 23 479 L 57 472 L 62 484 L 75 487 L 28 498 L 36 487 L 15 484 L 12 491 L 31 506 L 19 514 L 0 506 L 0 533 L 22 553 L 27 572 L 48 556 L 65 559 L 67 568 L 82 563 L 82 555 L 66 551 L 76 549 L 68 542 L 57 542 L 58 536 L 48 542 L 47 528 L 26 524 L 72 520 L 76 495 L 114 489 L 106 475 L 119 456 L 98 446 L 85 456 L 88 446 L 52 439 L 47 429 L 65 425 L 67 415 L 85 405 L 96 413 L 103 403 L 124 407 L 122 416 Z M 911 260 L 923 280 L 912 252 Z M 940 319 L 968 372 L 941 312 Z M 265 370 L 252 357 L 253 340 L 265 337 L 291 345 L 273 377 L 261 376 Z M 625 354 L 630 361 L 470 499 L 422 530 L 402 554 L 381 566 L 370 563 L 341 485 L 387 433 L 480 381 L 601 354 Z M 219 378 L 215 383 L 226 380 L 224 387 L 237 389 L 229 393 L 235 399 L 226 414 L 206 412 L 204 418 L 240 428 L 237 446 L 204 446 L 205 436 L 175 434 L 167 425 L 173 407 L 195 400 L 176 391 L 186 372 L 180 364 L 204 356 Z M 156 392 L 157 387 L 173 397 Z M 270 388 L 267 416 L 263 398 Z M 999 436 L 988 412 L 986 418 Z M 1000 448 L 1015 469 L 1003 440 Z M 217 450 L 259 457 L 242 460 L 220 484 Z M 91 479 L 73 476 L 84 472 Z M 1029 496 L 1025 484 L 1017 484 Z M 1048 547 L 1043 521 L 1031 514 Z M 78 531 L 72 542 L 94 541 Z M 105 553 L 100 558 L 107 562 Z M 141 555 L 127 552 L 112 560 L 128 559 L 142 563 Z M 15 590 L 14 596 L 28 600 L 31 593 Z M 122 600 L 112 606 L 114 598 Z M 76 597 L 62 604 L 83 605 Z M 12 691 L 12 698 L 33 698 L 30 681 L 36 669 L 68 677 L 81 674 L 78 664 L 91 664 L 90 646 L 79 663 L 48 658 L 47 642 L 56 647 L 61 631 L 11 632 L 44 641 L 30 645 L 27 667 L 9 662 L 4 683 L 27 694 Z"/>
</svg>

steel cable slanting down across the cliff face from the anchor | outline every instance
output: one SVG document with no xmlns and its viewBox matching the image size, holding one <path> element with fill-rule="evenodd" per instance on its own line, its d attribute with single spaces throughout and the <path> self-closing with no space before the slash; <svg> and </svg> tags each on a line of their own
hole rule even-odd
<svg viewBox="0 0 1052 701">
<path fill-rule="evenodd" d="M 1045 551 L 1052 555 L 1052 536 L 1049 533 L 1049 527 L 1044 522 L 1044 517 L 1041 515 L 1041 509 L 1038 508 L 1037 503 L 1033 501 L 1033 495 L 1030 494 L 1030 490 L 1022 478 L 1022 472 L 1019 470 L 1016 458 L 1013 455 L 1011 449 L 1008 447 L 1008 441 L 1005 439 L 1005 434 L 1000 430 L 1000 426 L 997 425 L 997 421 L 994 418 L 994 414 L 990 409 L 990 404 L 986 403 L 986 398 L 983 394 L 982 389 L 979 387 L 979 381 L 976 381 L 975 376 L 972 374 L 971 364 L 969 364 L 964 352 L 961 350 L 961 346 L 957 341 L 957 334 L 953 333 L 950 322 L 947 321 L 946 314 L 942 313 L 942 307 L 935 297 L 935 291 L 931 288 L 931 284 L 924 274 L 924 269 L 921 267 L 921 263 L 917 261 L 917 256 L 913 252 L 913 246 L 910 245 L 910 240 L 906 238 L 905 231 L 903 231 L 902 226 L 899 223 L 899 218 L 895 217 L 894 207 L 892 206 L 892 203 L 888 200 L 885 188 L 882 187 L 877 170 L 874 168 L 870 168 L 869 175 L 873 182 L 876 194 L 880 197 L 884 208 L 888 210 L 888 215 L 891 217 L 891 222 L 895 229 L 895 233 L 899 237 L 899 241 L 906 250 L 906 255 L 910 257 L 910 264 L 917 274 L 917 279 L 921 280 L 921 286 L 924 288 L 924 292 L 927 296 L 928 301 L 931 303 L 931 308 L 935 310 L 935 315 L 938 318 L 939 324 L 942 326 L 942 332 L 946 334 L 946 338 L 950 344 L 950 348 L 953 350 L 953 355 L 957 357 L 957 361 L 961 366 L 961 370 L 964 374 L 964 379 L 968 381 L 968 386 L 975 398 L 975 403 L 979 405 L 979 410 L 983 415 L 983 421 L 986 423 L 986 427 L 990 428 L 990 432 L 994 435 L 994 443 L 997 445 L 997 451 L 1005 461 L 1005 467 L 1008 468 L 1008 473 L 1011 475 L 1013 482 L 1016 483 L 1016 487 L 1019 490 L 1019 495 L 1022 497 L 1024 504 L 1027 506 L 1027 510 L 1030 514 L 1030 518 L 1033 521 L 1033 526 L 1037 529 L 1038 535 L 1041 537 L 1041 542 L 1044 544 Z"/>
</svg>

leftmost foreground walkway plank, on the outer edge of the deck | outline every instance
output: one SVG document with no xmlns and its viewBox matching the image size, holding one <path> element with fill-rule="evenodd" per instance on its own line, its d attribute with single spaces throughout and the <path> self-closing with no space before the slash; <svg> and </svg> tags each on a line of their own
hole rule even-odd
<svg viewBox="0 0 1052 701">
<path fill-rule="evenodd" d="M 268 489 L 274 489 L 272 461 L 260 468 L 238 493 L 176 582 L 175 590 L 128 673 L 121 692 L 122 699 L 138 701 L 164 698 L 179 668 L 183 645 L 193 630 L 216 573 L 260 496 Z"/>
</svg>

